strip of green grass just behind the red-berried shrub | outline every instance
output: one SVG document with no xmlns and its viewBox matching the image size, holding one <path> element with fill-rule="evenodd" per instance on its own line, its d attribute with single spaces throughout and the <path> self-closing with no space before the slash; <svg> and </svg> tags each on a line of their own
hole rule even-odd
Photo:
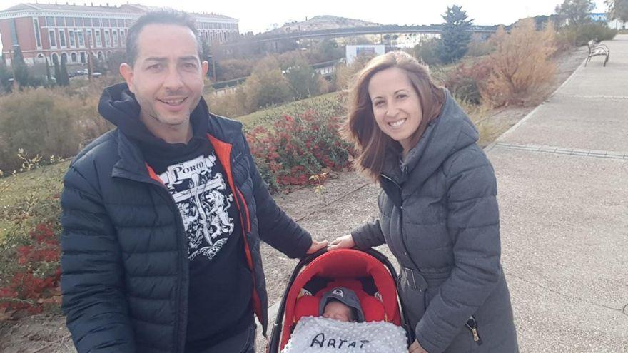
<svg viewBox="0 0 628 353">
<path fill-rule="evenodd" d="M 313 109 L 315 111 L 332 110 L 344 111 L 343 103 L 340 100 L 340 93 L 332 92 L 321 96 L 306 98 L 301 101 L 285 103 L 280 106 L 266 108 L 263 111 L 256 111 L 245 116 L 239 116 L 236 120 L 241 121 L 245 128 L 252 128 L 255 125 L 272 125 L 272 123 L 281 116 L 298 116 Z"/>
</svg>

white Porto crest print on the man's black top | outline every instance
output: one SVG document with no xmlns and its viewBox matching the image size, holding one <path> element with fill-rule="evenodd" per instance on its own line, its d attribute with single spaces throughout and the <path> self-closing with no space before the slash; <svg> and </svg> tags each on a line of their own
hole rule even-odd
<svg viewBox="0 0 628 353">
<path fill-rule="evenodd" d="M 168 167 L 159 178 L 172 194 L 188 234 L 188 258 L 199 255 L 211 260 L 233 232 L 228 193 L 221 173 L 212 173 L 216 155 L 199 155 Z M 228 195 L 226 195 L 228 193 Z"/>
</svg>

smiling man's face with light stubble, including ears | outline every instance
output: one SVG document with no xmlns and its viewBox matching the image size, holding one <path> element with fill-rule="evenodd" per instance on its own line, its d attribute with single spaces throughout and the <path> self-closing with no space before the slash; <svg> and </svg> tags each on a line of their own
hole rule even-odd
<svg viewBox="0 0 628 353">
<path fill-rule="evenodd" d="M 158 130 L 187 128 L 208 69 L 198 58 L 193 32 L 186 26 L 149 24 L 138 36 L 135 64 L 125 65 L 120 71 L 141 106 L 142 121 Z"/>
</svg>

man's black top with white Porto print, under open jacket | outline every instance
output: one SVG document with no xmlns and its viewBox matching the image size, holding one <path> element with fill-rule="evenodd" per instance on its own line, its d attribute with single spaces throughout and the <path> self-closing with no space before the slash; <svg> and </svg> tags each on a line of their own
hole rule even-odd
<svg viewBox="0 0 628 353">
<path fill-rule="evenodd" d="M 140 145 L 146 163 L 173 196 L 188 236 L 186 352 L 198 352 L 253 324 L 253 277 L 240 213 L 206 135 L 195 131 L 187 145 L 163 140 Z"/>
</svg>

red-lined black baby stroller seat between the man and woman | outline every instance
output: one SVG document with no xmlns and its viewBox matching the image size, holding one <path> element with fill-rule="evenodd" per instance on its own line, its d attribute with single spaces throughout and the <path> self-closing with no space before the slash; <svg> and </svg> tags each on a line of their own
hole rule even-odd
<svg viewBox="0 0 628 353">
<path fill-rule="evenodd" d="M 414 338 L 402 317 L 403 305 L 397 302 L 396 278 L 393 265 L 377 250 L 323 249 L 308 255 L 290 276 L 266 352 L 281 352 L 301 317 L 318 316 L 320 294 L 338 286 L 356 292 L 365 321 L 392 322 L 404 327 L 410 344 Z"/>
</svg>

